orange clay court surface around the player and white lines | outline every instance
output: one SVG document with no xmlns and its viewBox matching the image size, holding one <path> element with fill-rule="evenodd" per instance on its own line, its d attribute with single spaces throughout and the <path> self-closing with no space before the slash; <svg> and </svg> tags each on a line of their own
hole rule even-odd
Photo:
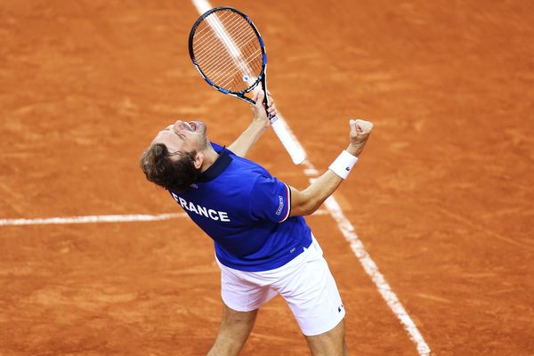
<svg viewBox="0 0 534 356">
<path fill-rule="evenodd" d="M 321 172 L 375 123 L 336 199 L 433 354 L 534 354 L 534 6 L 212 1 L 247 12 L 279 110 Z M 0 219 L 181 213 L 138 158 L 177 118 L 230 144 L 247 105 L 190 63 L 190 1 L 0 4 Z M 308 177 L 269 132 L 251 152 Z M 354 355 L 417 355 L 332 216 L 306 220 Z M 221 301 L 193 223 L 0 226 L 0 355 L 201 355 Z M 304 355 L 279 297 L 243 355 Z"/>
</svg>

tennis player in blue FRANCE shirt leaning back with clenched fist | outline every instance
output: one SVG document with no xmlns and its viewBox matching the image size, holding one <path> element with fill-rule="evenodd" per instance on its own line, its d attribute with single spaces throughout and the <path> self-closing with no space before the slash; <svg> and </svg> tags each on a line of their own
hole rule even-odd
<svg viewBox="0 0 534 356">
<path fill-rule="evenodd" d="M 316 211 L 347 178 L 372 124 L 350 120 L 347 149 L 308 188 L 296 190 L 245 158 L 270 125 L 263 95 L 255 92 L 252 123 L 227 148 L 207 139 L 205 123 L 176 121 L 142 154 L 142 171 L 214 239 L 223 320 L 208 355 L 238 355 L 259 308 L 278 294 L 313 355 L 346 355 L 344 305 L 302 216 Z M 276 115 L 269 99 L 268 111 Z"/>
</svg>

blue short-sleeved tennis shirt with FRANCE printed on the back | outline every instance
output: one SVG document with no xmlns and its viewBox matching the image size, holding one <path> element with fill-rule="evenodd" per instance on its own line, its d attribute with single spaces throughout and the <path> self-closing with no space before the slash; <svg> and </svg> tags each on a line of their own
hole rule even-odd
<svg viewBox="0 0 534 356">
<path fill-rule="evenodd" d="M 312 244 L 302 216 L 289 217 L 291 191 L 262 166 L 212 143 L 219 153 L 197 182 L 169 190 L 193 222 L 214 239 L 215 255 L 240 271 L 281 267 Z"/>
</svg>

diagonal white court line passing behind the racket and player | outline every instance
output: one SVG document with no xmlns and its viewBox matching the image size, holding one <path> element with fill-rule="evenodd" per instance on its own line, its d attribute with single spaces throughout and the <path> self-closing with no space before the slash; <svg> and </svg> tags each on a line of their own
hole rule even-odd
<svg viewBox="0 0 534 356">
<path fill-rule="evenodd" d="M 195 5 L 195 7 L 197 8 L 200 14 L 212 8 L 211 4 L 209 4 L 209 2 L 206 0 L 191 0 L 191 1 L 193 2 L 193 4 Z M 287 129 L 288 129 L 289 126 L 287 125 L 287 122 L 284 120 L 284 118 L 282 117 L 280 113 L 278 114 L 278 117 L 279 117 L 279 120 L 281 120 L 287 126 Z M 301 146 L 300 142 L 298 142 L 295 135 L 292 134 L 290 130 L 288 131 L 291 134 L 295 143 Z M 312 162 L 310 162 L 309 160 L 305 160 L 303 162 L 303 166 L 305 166 L 303 173 L 306 176 L 310 177 L 310 182 L 312 182 L 314 179 L 318 177 L 319 172 L 312 165 Z M 341 209 L 341 206 L 337 204 L 336 198 L 334 198 L 334 196 L 330 196 L 326 200 L 325 205 L 327 206 L 328 212 L 332 215 L 334 220 L 336 220 L 337 226 L 339 227 L 339 230 L 343 233 L 344 238 L 351 244 L 351 248 L 352 248 L 352 251 L 354 252 L 354 255 L 358 257 L 358 260 L 363 266 L 363 269 L 367 272 L 368 276 L 375 283 L 375 286 L 378 289 L 378 292 L 380 293 L 380 295 L 382 295 L 382 297 L 384 298 L 385 303 L 387 303 L 387 305 L 390 307 L 392 312 L 401 321 L 401 324 L 404 327 L 404 329 L 408 332 L 410 339 L 416 344 L 417 352 L 419 352 L 419 355 L 421 356 L 430 355 L 431 354 L 430 347 L 428 346 L 428 344 L 426 344 L 425 339 L 423 338 L 423 336 L 421 336 L 421 333 L 417 329 L 416 324 L 409 317 L 408 312 L 406 312 L 406 309 L 404 309 L 404 307 L 402 306 L 397 295 L 395 295 L 395 293 L 392 291 L 392 287 L 390 287 L 390 285 L 385 281 L 382 273 L 378 271 L 378 267 L 376 266 L 376 263 L 373 261 L 371 256 L 366 251 L 365 247 L 363 246 L 360 239 L 358 238 L 358 235 L 356 235 L 356 232 L 354 231 L 354 227 L 352 226 L 352 223 L 344 215 L 343 210 Z"/>
</svg>

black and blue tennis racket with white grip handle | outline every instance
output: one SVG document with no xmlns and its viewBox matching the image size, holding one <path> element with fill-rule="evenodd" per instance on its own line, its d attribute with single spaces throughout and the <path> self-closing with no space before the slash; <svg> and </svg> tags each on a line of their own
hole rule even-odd
<svg viewBox="0 0 534 356">
<path fill-rule="evenodd" d="M 189 49 L 193 64 L 207 84 L 253 105 L 255 101 L 247 93 L 262 84 L 263 105 L 267 108 L 267 53 L 262 36 L 245 13 L 227 6 L 205 12 L 191 28 Z M 269 118 L 295 165 L 302 163 L 306 155 L 283 120 Z"/>
</svg>

